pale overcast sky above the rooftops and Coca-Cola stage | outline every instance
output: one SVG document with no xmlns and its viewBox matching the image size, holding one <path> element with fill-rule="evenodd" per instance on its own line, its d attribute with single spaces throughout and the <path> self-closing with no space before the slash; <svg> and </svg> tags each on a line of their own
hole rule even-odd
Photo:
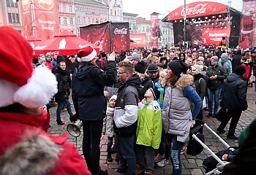
<svg viewBox="0 0 256 175">
<path fill-rule="evenodd" d="M 186 3 L 192 3 L 200 0 L 187 0 Z M 202 1 L 202 0 L 201 0 Z M 242 0 L 208 0 L 215 1 L 222 4 L 227 4 L 227 1 L 231 1 L 231 7 L 241 11 Z M 168 12 L 184 5 L 184 0 L 123 0 L 124 12 L 138 14 L 138 17 L 146 18 L 150 20 L 150 14 L 152 12 L 158 12 L 162 14 L 163 17 L 168 14 Z"/>
</svg>

